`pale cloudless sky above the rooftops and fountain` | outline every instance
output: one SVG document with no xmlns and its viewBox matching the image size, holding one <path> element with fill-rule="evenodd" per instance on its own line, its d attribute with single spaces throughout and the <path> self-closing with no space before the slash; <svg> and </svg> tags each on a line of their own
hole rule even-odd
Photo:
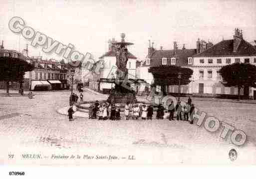
<svg viewBox="0 0 256 179">
<path fill-rule="evenodd" d="M 138 60 L 145 59 L 149 39 L 157 49 L 173 49 L 173 41 L 179 48 L 196 48 L 198 38 L 215 44 L 232 39 L 240 28 L 245 40 L 256 40 L 256 0 L 0 0 L 4 48 L 22 51 L 28 44 L 29 56 L 61 60 L 61 55 L 44 53 L 10 31 L 13 16 L 96 60 L 108 50 L 108 39 L 120 41 L 121 33 L 134 43 L 129 51 Z"/>
</svg>

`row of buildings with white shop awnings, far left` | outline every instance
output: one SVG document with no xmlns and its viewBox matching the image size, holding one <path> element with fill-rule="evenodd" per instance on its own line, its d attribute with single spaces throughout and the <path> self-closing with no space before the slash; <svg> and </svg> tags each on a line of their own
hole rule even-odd
<svg viewBox="0 0 256 179">
<path fill-rule="evenodd" d="M 22 84 L 12 82 L 10 88 L 17 89 L 21 86 L 25 90 L 55 90 L 68 88 L 66 80 L 68 69 L 63 60 L 57 62 L 54 59 L 42 60 L 42 57 L 28 57 L 27 46 L 22 53 L 19 53 L 15 50 L 4 49 L 3 44 L 0 48 L 0 56 L 12 56 L 26 60 L 34 66 L 32 71 L 25 72 Z M 5 88 L 3 82 L 0 84 L 0 87 Z"/>
</svg>

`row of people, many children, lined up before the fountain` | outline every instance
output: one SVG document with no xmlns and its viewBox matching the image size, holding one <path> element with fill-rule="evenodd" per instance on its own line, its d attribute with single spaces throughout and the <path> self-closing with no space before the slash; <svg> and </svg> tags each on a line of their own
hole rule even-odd
<svg viewBox="0 0 256 179">
<path fill-rule="evenodd" d="M 156 119 L 163 120 L 165 118 L 170 121 L 176 118 L 177 120 L 189 121 L 193 124 L 192 113 L 194 111 L 194 105 L 191 104 L 191 98 L 188 99 L 188 102 L 184 105 L 181 104 L 180 100 L 174 106 L 174 103 L 171 103 L 166 109 L 160 104 L 157 107 Z M 103 103 L 99 104 L 97 101 L 94 106 L 89 108 L 89 119 L 98 119 L 98 120 L 120 120 L 120 106 L 116 104 Z M 126 103 L 124 106 L 124 115 L 126 120 L 135 119 L 138 120 L 152 120 L 154 114 L 154 108 L 152 105 L 146 104 L 129 104 Z"/>
</svg>

